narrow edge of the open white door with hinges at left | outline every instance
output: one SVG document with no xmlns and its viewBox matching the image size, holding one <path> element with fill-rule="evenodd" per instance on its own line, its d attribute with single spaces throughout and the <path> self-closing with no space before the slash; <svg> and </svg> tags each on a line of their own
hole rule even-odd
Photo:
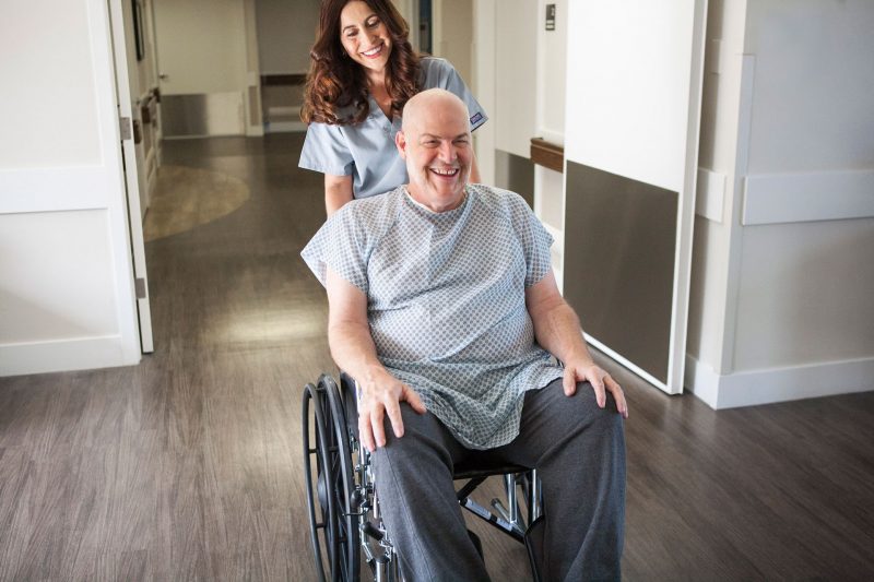
<svg viewBox="0 0 874 582">
<path fill-rule="evenodd" d="M 113 52 L 116 69 L 116 95 L 121 123 L 121 155 L 125 163 L 130 245 L 133 256 L 133 277 L 137 290 L 137 309 L 140 320 L 140 346 L 144 354 L 155 351 L 152 337 L 152 308 L 149 302 L 149 275 L 145 270 L 145 240 L 143 238 L 143 212 L 140 207 L 140 180 L 137 166 L 134 118 L 131 104 L 130 78 L 128 75 L 128 50 L 125 36 L 125 12 L 121 2 L 108 0 L 113 31 Z"/>
</svg>

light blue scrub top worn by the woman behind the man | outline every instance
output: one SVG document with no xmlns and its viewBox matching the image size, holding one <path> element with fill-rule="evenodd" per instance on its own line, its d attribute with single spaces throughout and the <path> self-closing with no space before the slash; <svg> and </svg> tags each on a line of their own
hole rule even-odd
<svg viewBox="0 0 874 582">
<path fill-rule="evenodd" d="M 458 71 L 445 59 L 424 57 L 422 88 L 440 87 L 458 95 L 471 115 L 471 131 L 488 119 Z M 310 123 L 298 166 L 333 176 L 353 176 L 355 198 L 382 194 L 406 183 L 406 164 L 394 146 L 401 117 L 389 120 L 373 96 L 370 112 L 354 126 Z"/>
</svg>

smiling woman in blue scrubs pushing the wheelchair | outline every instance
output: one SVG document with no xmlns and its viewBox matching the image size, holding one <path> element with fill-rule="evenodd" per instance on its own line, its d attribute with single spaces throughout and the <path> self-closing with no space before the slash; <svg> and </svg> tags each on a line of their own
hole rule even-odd
<svg viewBox="0 0 874 582">
<path fill-rule="evenodd" d="M 326 0 L 310 56 L 303 120 L 309 124 L 299 166 L 324 174 L 328 216 L 353 198 L 408 182 L 394 146 L 404 104 L 442 87 L 468 105 L 471 130 L 487 117 L 452 66 L 420 57 L 391 0 Z M 476 162 L 471 181 L 480 181 Z"/>
</svg>

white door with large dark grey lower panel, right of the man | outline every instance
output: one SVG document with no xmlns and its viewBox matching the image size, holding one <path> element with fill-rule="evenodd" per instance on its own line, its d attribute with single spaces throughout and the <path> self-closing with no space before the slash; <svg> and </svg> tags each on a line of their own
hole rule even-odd
<svg viewBox="0 0 874 582">
<path fill-rule="evenodd" d="M 683 391 L 706 0 L 568 2 L 564 293 L 588 340 Z"/>
</svg>

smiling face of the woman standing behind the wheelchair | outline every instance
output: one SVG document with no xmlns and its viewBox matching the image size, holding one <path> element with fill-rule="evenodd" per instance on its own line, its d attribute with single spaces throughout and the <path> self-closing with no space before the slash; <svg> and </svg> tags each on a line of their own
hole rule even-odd
<svg viewBox="0 0 874 582">
<path fill-rule="evenodd" d="M 383 73 L 391 55 L 388 26 L 367 2 L 353 0 L 340 13 L 340 41 L 349 57 L 367 69 Z"/>
</svg>

